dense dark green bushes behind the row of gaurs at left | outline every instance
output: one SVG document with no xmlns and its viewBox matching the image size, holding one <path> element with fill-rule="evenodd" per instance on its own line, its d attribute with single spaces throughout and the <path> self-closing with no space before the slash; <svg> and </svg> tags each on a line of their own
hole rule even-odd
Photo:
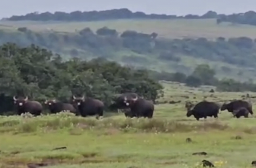
<svg viewBox="0 0 256 168">
<path fill-rule="evenodd" d="M 64 61 L 37 45 L 0 46 L 1 112 L 13 111 L 13 96 L 28 96 L 43 103 L 56 98 L 69 102 L 72 95 L 92 97 L 111 104 L 116 94 L 136 92 L 155 101 L 163 87 L 146 70 L 123 67 L 102 58 Z"/>
</svg>

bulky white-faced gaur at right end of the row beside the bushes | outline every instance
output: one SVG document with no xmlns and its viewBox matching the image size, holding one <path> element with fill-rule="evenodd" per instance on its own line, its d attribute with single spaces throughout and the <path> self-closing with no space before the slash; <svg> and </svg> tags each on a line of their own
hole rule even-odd
<svg viewBox="0 0 256 168">
<path fill-rule="evenodd" d="M 153 117 L 154 104 L 152 101 L 139 97 L 131 99 L 124 97 L 124 103 L 130 108 L 130 112 L 126 114 L 127 117 Z"/>
</svg>

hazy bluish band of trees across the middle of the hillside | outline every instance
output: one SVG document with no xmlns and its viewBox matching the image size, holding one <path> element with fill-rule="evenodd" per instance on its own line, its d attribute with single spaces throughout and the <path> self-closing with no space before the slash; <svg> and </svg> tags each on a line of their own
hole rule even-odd
<svg viewBox="0 0 256 168">
<path fill-rule="evenodd" d="M 221 61 L 240 67 L 254 68 L 256 57 L 256 40 L 249 37 L 224 38 L 215 41 L 207 38 L 162 39 L 158 33 L 138 33 L 126 30 L 121 34 L 107 27 L 95 32 L 84 28 L 76 33 L 34 32 L 26 27 L 18 28 L 18 32 L 0 30 L 0 44 L 17 43 L 21 46 L 36 44 L 67 57 L 104 57 L 115 60 L 117 52 L 126 51 L 124 63 L 148 64 L 150 57 L 163 62 L 180 62 L 180 55 L 203 58 L 211 61 Z M 128 52 L 127 52 L 128 51 Z M 146 57 L 137 57 L 143 54 Z M 120 56 L 119 56 L 120 58 Z M 232 71 L 222 67 L 223 71 Z M 185 73 L 185 72 L 184 72 Z"/>
</svg>

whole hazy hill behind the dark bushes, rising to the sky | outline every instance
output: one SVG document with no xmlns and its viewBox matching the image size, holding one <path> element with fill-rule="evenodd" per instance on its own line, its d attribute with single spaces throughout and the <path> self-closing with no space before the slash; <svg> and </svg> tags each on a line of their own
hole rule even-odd
<svg viewBox="0 0 256 168">
<path fill-rule="evenodd" d="M 127 12 L 127 15 L 116 17 L 115 14 L 120 12 Z M 46 14 L 48 19 L 42 21 L 40 17 L 46 17 Z M 56 19 L 57 14 L 66 17 L 72 15 L 73 19 L 66 20 L 65 17 Z M 91 17 L 102 15 L 105 19 L 82 21 L 82 15 L 89 14 Z M 249 14 L 253 13 L 249 12 Z M 78 15 L 81 15 L 79 21 L 77 21 Z M 128 15 L 130 15 L 129 19 Z M 245 15 L 247 16 L 248 13 Z M 139 16 L 140 20 L 137 20 Z M 188 18 L 188 15 L 146 15 L 140 12 L 131 13 L 128 9 L 78 11 L 70 14 L 32 13 L 1 21 L 0 43 L 15 42 L 20 45 L 35 43 L 62 54 L 67 59 L 104 57 L 140 68 L 179 71 L 186 74 L 196 65 L 207 63 L 216 70 L 219 78 L 255 79 L 256 28 L 232 23 L 217 24 L 216 21 L 220 16 L 223 15 L 212 11 L 196 18 Z M 34 19 L 27 19 L 29 17 Z M 127 30 L 129 30 L 128 35 L 122 36 Z M 156 36 L 152 36 L 152 33 Z"/>
</svg>

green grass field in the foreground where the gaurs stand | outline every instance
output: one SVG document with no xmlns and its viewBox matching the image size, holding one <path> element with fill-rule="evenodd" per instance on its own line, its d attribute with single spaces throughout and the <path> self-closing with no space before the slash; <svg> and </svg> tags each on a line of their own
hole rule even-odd
<svg viewBox="0 0 256 168">
<path fill-rule="evenodd" d="M 218 119 L 196 121 L 185 117 L 184 107 L 187 100 L 225 101 L 246 93 L 209 93 L 211 87 L 193 89 L 177 83 L 164 86 L 166 96 L 160 102 L 181 102 L 155 105 L 151 120 L 126 119 L 122 114 L 101 120 L 68 113 L 0 117 L 1 168 L 41 162 L 52 168 L 196 168 L 203 159 L 216 167 L 250 167 L 256 160 L 255 117 L 236 119 L 224 111 Z M 256 101 L 251 101 L 255 109 Z"/>
</svg>

